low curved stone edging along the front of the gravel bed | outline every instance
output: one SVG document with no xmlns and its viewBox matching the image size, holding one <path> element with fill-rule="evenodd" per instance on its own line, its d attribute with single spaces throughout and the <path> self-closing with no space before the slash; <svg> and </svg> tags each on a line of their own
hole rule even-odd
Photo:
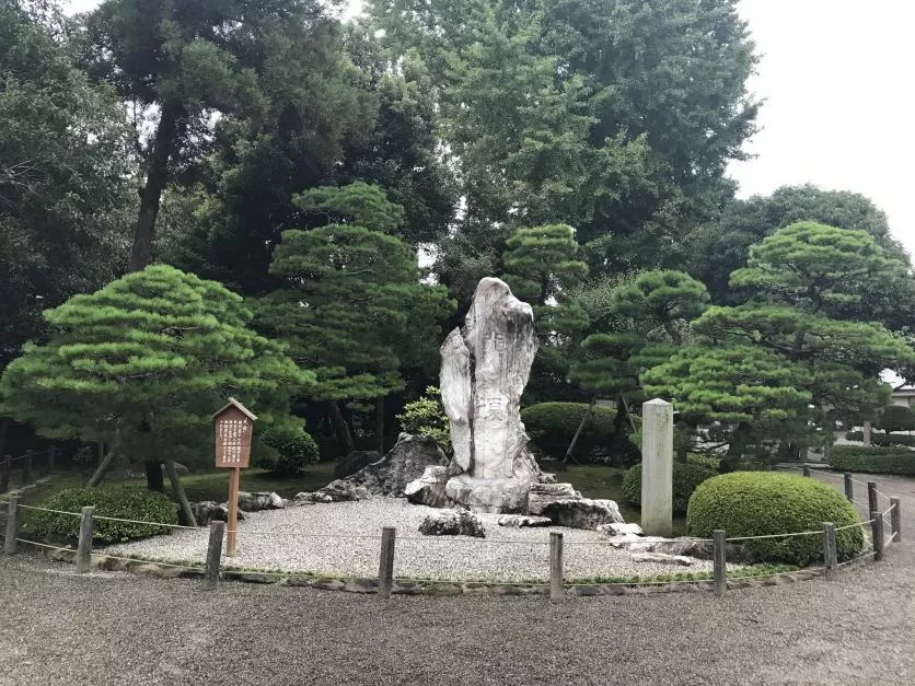
<svg viewBox="0 0 915 686">
<path fill-rule="evenodd" d="M 55 561 L 73 563 L 77 551 L 72 549 L 43 549 L 44 557 Z M 92 569 L 97 571 L 125 571 L 135 574 L 146 574 L 159 579 L 201 579 L 204 569 L 178 567 L 165 562 L 150 560 L 135 560 L 115 558 L 104 554 L 92 555 Z M 780 572 L 758 579 L 728 579 L 728 590 L 752 589 L 760 586 L 776 586 L 799 581 L 808 581 L 823 575 L 821 569 L 799 569 L 797 571 Z M 373 578 L 327 578 L 289 574 L 265 573 L 223 569 L 220 571 L 222 581 L 240 581 L 243 583 L 276 584 L 286 586 L 304 586 L 322 591 L 344 591 L 347 593 L 377 593 L 378 579 Z M 594 595 L 649 595 L 655 593 L 702 593 L 714 590 L 713 580 L 704 581 L 669 581 L 647 583 L 567 583 L 565 594 L 568 596 Z M 549 595 L 549 583 L 500 583 L 484 581 L 432 581 L 394 579 L 391 589 L 398 595 Z"/>
</svg>

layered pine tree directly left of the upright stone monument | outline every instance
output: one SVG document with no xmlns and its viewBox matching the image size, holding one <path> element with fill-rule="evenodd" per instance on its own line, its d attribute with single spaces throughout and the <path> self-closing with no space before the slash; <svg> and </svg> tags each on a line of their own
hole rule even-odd
<svg viewBox="0 0 915 686">
<path fill-rule="evenodd" d="M 318 188 L 296 202 L 308 212 L 391 230 L 403 213 L 378 193 L 364 184 Z M 340 403 L 375 400 L 381 447 L 384 397 L 404 387 L 401 370 L 421 354 L 419 341 L 435 341 L 433 349 L 440 344 L 436 317 L 450 313 L 444 289 L 419 282 L 408 244 L 358 223 L 285 231 L 270 274 L 285 288 L 259 301 L 258 327 L 287 341 L 292 358 L 315 372 L 309 395 L 327 403 L 348 452 L 354 443 Z"/>
</svg>

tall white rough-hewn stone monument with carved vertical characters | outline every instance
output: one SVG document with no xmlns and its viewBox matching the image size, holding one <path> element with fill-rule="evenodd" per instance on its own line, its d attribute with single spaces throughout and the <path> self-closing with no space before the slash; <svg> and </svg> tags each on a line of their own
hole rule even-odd
<svg viewBox="0 0 915 686">
<path fill-rule="evenodd" d="M 453 501 L 478 512 L 520 512 L 540 469 L 528 452 L 521 394 L 537 350 L 531 306 L 500 279 L 480 280 L 464 326 L 441 347 L 441 394 L 451 420 Z"/>
</svg>

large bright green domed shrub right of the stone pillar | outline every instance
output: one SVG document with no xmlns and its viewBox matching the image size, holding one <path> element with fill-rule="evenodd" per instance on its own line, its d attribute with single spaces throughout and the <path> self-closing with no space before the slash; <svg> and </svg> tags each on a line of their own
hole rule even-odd
<svg viewBox="0 0 915 686">
<path fill-rule="evenodd" d="M 841 492 L 818 481 L 776 472 L 733 472 L 708 479 L 696 488 L 686 510 L 692 536 L 710 538 L 721 528 L 728 538 L 822 531 L 859 522 L 854 505 Z M 847 560 L 864 547 L 860 526 L 837 531 L 836 551 Z M 757 562 L 786 562 L 801 567 L 823 558 L 823 536 L 788 536 L 741 544 Z"/>
</svg>

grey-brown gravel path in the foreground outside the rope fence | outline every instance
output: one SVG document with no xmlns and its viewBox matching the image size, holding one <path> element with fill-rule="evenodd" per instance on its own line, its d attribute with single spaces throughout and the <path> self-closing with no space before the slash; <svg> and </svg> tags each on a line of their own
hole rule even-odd
<svg viewBox="0 0 915 686">
<path fill-rule="evenodd" d="M 207 593 L 0 557 L 0 684 L 912 684 L 915 480 L 878 481 L 911 503 L 884 562 L 721 601 Z"/>
</svg>

